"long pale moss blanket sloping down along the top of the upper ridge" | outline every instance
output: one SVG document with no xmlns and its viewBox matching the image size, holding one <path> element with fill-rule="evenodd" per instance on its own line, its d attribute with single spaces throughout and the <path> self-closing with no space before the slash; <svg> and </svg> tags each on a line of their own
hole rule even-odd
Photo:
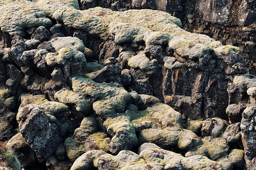
<svg viewBox="0 0 256 170">
<path fill-rule="evenodd" d="M 152 40 L 152 38 L 147 38 L 152 32 L 158 32 L 157 34 L 169 34 L 168 37 L 183 37 L 191 42 L 206 44 L 212 48 L 222 45 L 208 36 L 182 30 L 179 19 L 162 11 L 144 9 L 118 12 L 101 7 L 78 11 L 72 6 L 63 4 L 60 0 L 54 0 L 54 3 L 39 0 L 35 4 L 48 17 L 63 21 L 69 28 L 86 30 L 91 35 L 99 36 L 104 40 L 112 33 L 116 35 L 116 42 L 124 43 L 125 39 L 128 42 L 139 42 L 143 39 L 147 42 L 146 39 Z"/>
</svg>

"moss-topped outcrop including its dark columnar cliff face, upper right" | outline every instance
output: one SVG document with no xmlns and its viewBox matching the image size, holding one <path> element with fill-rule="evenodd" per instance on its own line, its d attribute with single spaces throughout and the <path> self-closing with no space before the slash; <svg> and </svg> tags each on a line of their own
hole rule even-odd
<svg viewBox="0 0 256 170">
<path fill-rule="evenodd" d="M 245 72 L 245 62 L 242 60 L 239 48 L 221 46 L 220 42 L 209 37 L 185 32 L 179 28 L 181 26 L 179 20 L 164 12 L 131 10 L 123 12 L 122 17 L 120 17 L 120 12 L 99 7 L 93 10 L 78 11 L 69 6 L 61 6 L 58 1 L 56 1 L 55 6 L 50 8 L 51 5 L 46 4 L 46 2 L 38 1 L 36 5 L 47 16 L 63 21 L 69 28 L 85 30 L 90 35 L 100 36 L 103 40 L 106 40 L 110 33 L 114 36 L 114 43 L 112 44 L 131 43 L 131 46 L 140 48 L 140 42 L 145 43 L 146 46 L 142 47 L 142 49 L 144 48 L 143 51 L 137 55 L 132 52 L 134 56 L 128 58 L 128 61 L 126 60 L 126 66 L 131 67 L 132 71 L 130 73 L 132 77 L 130 89 L 136 90 L 138 93 L 154 94 L 162 101 L 176 106 L 185 119 L 196 120 L 214 116 L 227 119 L 222 113 L 228 105 L 226 102 L 229 97 L 228 93 L 226 90 L 215 92 L 214 89 L 219 87 L 226 89 L 228 82 L 232 80 L 232 77 L 228 75 Z M 58 8 L 57 4 L 61 7 Z M 57 11 L 62 9 L 70 9 L 64 12 L 68 17 L 59 15 Z M 150 18 L 148 16 L 148 21 L 146 21 L 143 16 L 148 13 L 150 13 Z M 77 20 L 77 17 L 80 19 Z M 85 17 L 91 18 L 91 22 L 85 22 L 83 20 Z M 117 18 L 119 22 L 116 22 Z M 75 19 L 77 22 L 74 21 Z M 149 20 L 154 21 L 155 24 L 148 27 Z M 96 21 L 99 26 L 97 29 L 91 29 Z M 160 21 L 161 25 L 158 25 Z M 128 27 L 129 32 L 124 32 L 123 30 L 127 30 Z M 160 30 L 164 32 L 157 32 Z M 118 45 L 104 44 L 102 50 L 104 51 L 105 47 L 109 45 L 111 49 L 108 48 L 109 51 L 106 52 L 101 51 L 101 56 L 104 55 L 103 58 L 108 58 L 108 56 L 117 58 Z M 164 51 L 165 47 L 163 46 L 166 45 L 169 47 Z M 123 51 L 127 50 L 129 48 Z M 155 51 L 159 51 L 159 55 L 155 56 Z M 170 57 L 162 60 L 163 56 Z M 177 59 L 174 66 L 170 60 L 171 57 Z M 166 62 L 166 69 L 161 68 L 163 62 Z M 190 72 L 188 72 L 189 69 Z M 213 73 L 211 73 L 212 71 Z M 169 85 L 173 90 L 161 88 L 159 85 L 161 80 L 164 80 L 161 84 Z M 198 81 L 204 83 L 198 84 Z M 211 98 L 212 96 L 214 97 Z M 219 96 L 222 97 L 221 100 L 218 100 Z M 215 104 L 212 105 L 213 103 Z M 190 108 L 196 114 L 192 116 L 183 113 L 184 107 Z M 212 112 L 214 112 L 213 115 L 210 114 Z"/>
</svg>

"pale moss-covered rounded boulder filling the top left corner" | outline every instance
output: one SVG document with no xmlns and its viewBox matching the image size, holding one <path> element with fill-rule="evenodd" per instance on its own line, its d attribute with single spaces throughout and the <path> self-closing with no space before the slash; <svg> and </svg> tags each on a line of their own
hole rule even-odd
<svg viewBox="0 0 256 170">
<path fill-rule="evenodd" d="M 32 27 L 49 27 L 52 22 L 46 18 L 33 2 L 23 0 L 4 0 L 0 2 L 0 27 L 11 36 L 26 35 L 26 31 Z"/>
</svg>

